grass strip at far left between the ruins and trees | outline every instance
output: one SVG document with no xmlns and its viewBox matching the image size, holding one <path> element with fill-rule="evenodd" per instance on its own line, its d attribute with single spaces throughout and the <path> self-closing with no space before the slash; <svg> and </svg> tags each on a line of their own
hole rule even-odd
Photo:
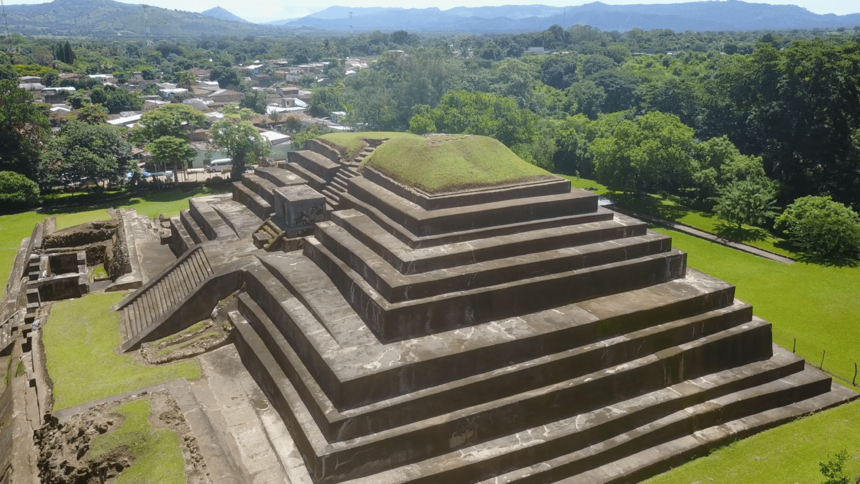
<svg viewBox="0 0 860 484">
<path fill-rule="evenodd" d="M 57 217 L 57 229 L 73 227 L 93 220 L 109 220 L 107 209 L 111 207 L 134 208 L 138 213 L 147 217 L 179 215 L 179 211 L 188 208 L 189 196 L 202 196 L 216 193 L 210 189 L 200 189 L 191 194 L 179 190 L 159 191 L 145 194 L 141 197 L 125 201 L 108 202 L 98 205 L 75 207 L 71 209 L 46 210 L 44 212 L 24 212 L 0 217 L 0 277 L 2 287 L 6 286 L 9 271 L 15 263 L 15 254 L 21 245 L 21 239 L 33 233 L 33 226 L 47 217 Z"/>
</svg>

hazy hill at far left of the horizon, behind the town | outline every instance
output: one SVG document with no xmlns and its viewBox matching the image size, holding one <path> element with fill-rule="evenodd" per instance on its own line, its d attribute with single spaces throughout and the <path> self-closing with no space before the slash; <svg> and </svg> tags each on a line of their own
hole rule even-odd
<svg viewBox="0 0 860 484">
<path fill-rule="evenodd" d="M 113 0 L 54 0 L 6 5 L 9 30 L 24 35 L 145 37 L 143 7 Z M 149 8 L 153 39 L 271 34 L 271 27 L 221 20 L 202 13 Z"/>
</svg>

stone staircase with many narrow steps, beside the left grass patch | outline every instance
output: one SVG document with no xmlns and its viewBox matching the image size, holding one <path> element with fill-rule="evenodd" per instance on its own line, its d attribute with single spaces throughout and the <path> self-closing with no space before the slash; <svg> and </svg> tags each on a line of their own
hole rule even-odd
<svg viewBox="0 0 860 484">
<path fill-rule="evenodd" d="M 206 253 L 196 247 L 120 303 L 123 348 L 158 325 L 213 274 Z"/>
</svg>

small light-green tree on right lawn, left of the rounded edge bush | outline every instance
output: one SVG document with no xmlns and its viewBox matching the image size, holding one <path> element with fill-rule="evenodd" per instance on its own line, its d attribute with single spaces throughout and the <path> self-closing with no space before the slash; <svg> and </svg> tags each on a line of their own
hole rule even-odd
<svg viewBox="0 0 860 484">
<path fill-rule="evenodd" d="M 719 190 L 714 213 L 726 222 L 737 225 L 759 225 L 775 217 L 776 190 L 764 178 L 729 183 Z"/>
</svg>

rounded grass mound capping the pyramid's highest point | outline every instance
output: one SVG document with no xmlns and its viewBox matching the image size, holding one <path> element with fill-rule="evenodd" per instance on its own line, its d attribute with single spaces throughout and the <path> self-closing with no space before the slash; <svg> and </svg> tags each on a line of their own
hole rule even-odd
<svg viewBox="0 0 860 484">
<path fill-rule="evenodd" d="M 377 148 L 363 166 L 430 194 L 554 178 L 495 139 L 471 135 L 399 136 Z"/>
</svg>

